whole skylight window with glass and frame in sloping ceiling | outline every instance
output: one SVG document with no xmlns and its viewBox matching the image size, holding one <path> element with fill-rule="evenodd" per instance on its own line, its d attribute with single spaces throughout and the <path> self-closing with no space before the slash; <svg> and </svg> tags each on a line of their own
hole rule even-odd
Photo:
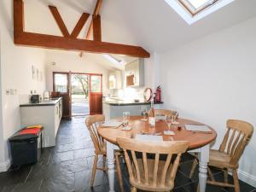
<svg viewBox="0 0 256 192">
<path fill-rule="evenodd" d="M 218 0 L 178 0 L 178 1 L 193 16 L 200 13 L 202 10 L 212 6 L 214 3 L 218 2 Z"/>
</svg>

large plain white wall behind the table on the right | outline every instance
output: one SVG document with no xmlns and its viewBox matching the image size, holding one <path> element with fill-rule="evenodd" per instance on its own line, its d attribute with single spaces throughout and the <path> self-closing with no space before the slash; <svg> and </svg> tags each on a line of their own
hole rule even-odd
<svg viewBox="0 0 256 192">
<path fill-rule="evenodd" d="M 165 108 L 211 125 L 218 148 L 226 119 L 256 127 L 256 18 L 160 54 Z M 256 138 L 240 162 L 240 177 L 256 186 Z"/>
</svg>

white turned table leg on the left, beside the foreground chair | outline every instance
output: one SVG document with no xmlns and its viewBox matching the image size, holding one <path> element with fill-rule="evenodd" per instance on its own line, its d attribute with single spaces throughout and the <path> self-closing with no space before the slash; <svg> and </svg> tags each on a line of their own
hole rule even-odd
<svg viewBox="0 0 256 192">
<path fill-rule="evenodd" d="M 109 192 L 114 192 L 114 154 L 113 153 L 114 153 L 113 144 L 107 142 Z"/>
</svg>

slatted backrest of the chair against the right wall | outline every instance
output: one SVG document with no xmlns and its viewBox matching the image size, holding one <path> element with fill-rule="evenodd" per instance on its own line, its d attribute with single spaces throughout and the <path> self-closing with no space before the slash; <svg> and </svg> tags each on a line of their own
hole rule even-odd
<svg viewBox="0 0 256 192">
<path fill-rule="evenodd" d="M 230 163 L 237 164 L 247 143 L 253 135 L 253 125 L 242 120 L 227 120 L 227 132 L 219 151 L 230 155 Z"/>
</svg>

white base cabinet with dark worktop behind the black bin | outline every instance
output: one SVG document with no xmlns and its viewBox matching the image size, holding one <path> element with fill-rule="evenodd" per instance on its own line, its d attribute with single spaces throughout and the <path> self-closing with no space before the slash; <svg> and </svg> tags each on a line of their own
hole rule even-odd
<svg viewBox="0 0 256 192">
<path fill-rule="evenodd" d="M 55 146 L 62 117 L 62 99 L 20 105 L 21 126 L 43 125 L 43 147 Z"/>
</svg>

